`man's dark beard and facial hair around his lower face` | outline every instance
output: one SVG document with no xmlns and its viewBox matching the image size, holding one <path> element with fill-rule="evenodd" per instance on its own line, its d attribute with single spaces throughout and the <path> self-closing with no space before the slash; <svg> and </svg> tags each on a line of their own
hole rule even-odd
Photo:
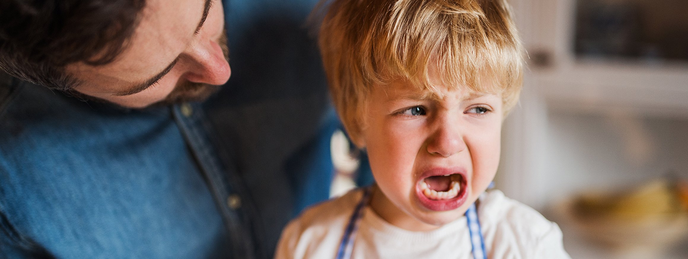
<svg viewBox="0 0 688 259">
<path fill-rule="evenodd" d="M 229 62 L 229 46 L 227 45 L 227 31 L 224 30 L 219 37 L 219 47 L 222 49 L 224 59 Z M 151 106 L 167 106 L 174 103 L 185 103 L 189 101 L 204 101 L 214 93 L 217 93 L 220 86 L 212 84 L 194 83 L 180 81 L 165 99 L 153 103 Z"/>
</svg>

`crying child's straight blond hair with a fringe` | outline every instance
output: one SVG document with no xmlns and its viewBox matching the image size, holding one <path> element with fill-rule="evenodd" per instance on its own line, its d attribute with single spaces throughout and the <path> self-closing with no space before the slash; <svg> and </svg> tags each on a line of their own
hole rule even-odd
<svg viewBox="0 0 688 259">
<path fill-rule="evenodd" d="M 505 115 L 522 85 L 522 47 L 503 0 L 324 0 L 319 47 L 330 93 L 354 143 L 372 86 L 404 79 L 440 95 L 502 95 Z M 493 84 L 482 84 L 489 79 Z M 436 82 L 436 81 L 435 81 Z"/>
</svg>

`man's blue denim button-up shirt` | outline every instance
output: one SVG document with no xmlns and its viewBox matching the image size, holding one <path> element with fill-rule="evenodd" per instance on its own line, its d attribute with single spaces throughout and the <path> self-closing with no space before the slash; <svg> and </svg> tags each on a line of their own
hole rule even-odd
<svg viewBox="0 0 688 259">
<path fill-rule="evenodd" d="M 233 77 L 204 103 L 129 110 L 0 78 L 0 258 L 271 258 L 327 199 L 315 1 L 225 2 Z"/>
</svg>

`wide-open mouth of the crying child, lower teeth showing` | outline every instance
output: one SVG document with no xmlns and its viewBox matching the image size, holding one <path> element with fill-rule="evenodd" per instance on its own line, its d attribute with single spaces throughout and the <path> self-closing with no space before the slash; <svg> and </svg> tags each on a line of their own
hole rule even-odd
<svg viewBox="0 0 688 259">
<path fill-rule="evenodd" d="M 466 201 L 467 182 L 465 173 L 460 170 L 429 170 L 416 184 L 416 195 L 420 204 L 429 210 L 453 210 Z"/>
</svg>

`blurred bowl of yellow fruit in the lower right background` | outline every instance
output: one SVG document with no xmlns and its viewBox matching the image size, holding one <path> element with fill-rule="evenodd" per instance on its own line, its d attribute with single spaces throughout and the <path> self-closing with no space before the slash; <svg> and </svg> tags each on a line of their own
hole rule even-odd
<svg viewBox="0 0 688 259">
<path fill-rule="evenodd" d="M 585 193 L 557 206 L 562 225 L 621 253 L 661 253 L 688 234 L 688 184 L 666 179 L 621 192 Z"/>
</svg>

